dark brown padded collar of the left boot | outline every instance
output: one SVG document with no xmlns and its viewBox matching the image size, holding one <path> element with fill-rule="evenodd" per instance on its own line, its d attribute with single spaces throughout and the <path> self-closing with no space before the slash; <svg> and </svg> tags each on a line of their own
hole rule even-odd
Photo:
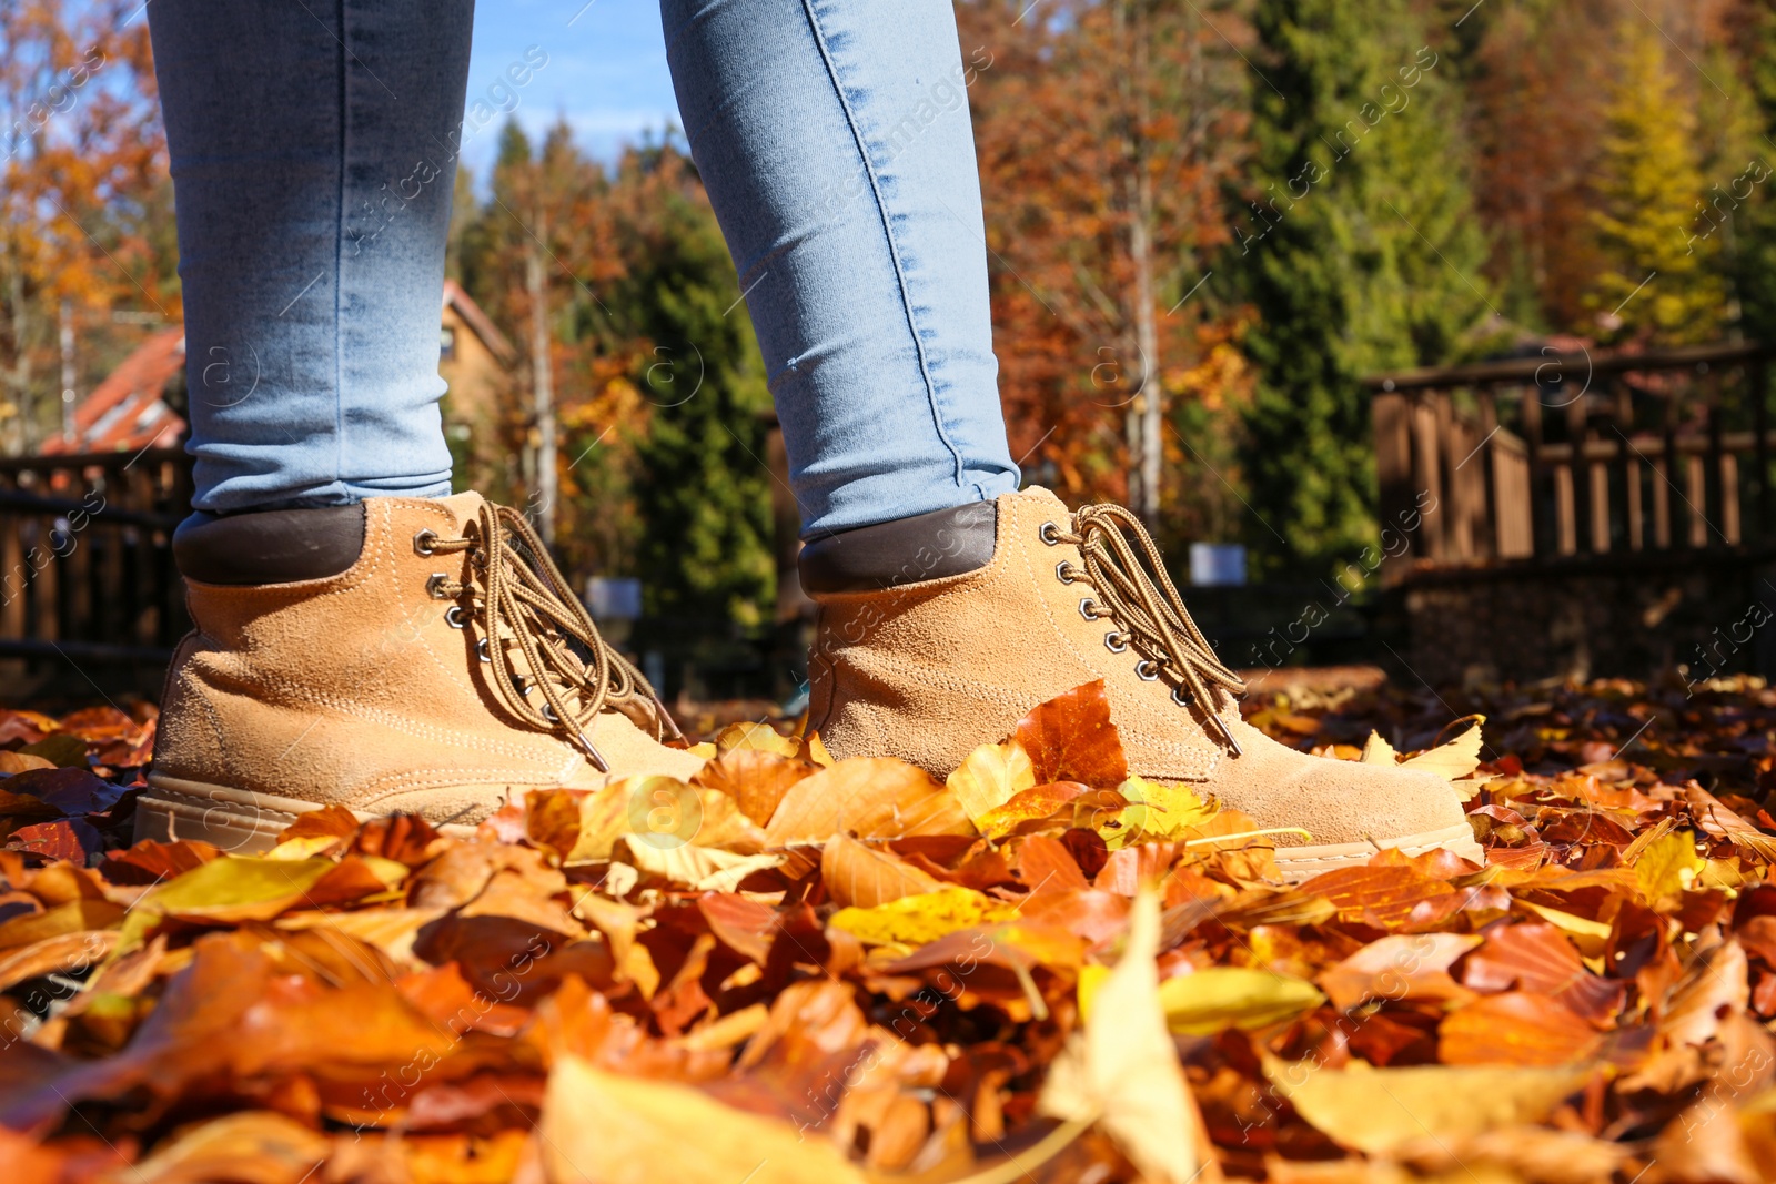
<svg viewBox="0 0 1776 1184">
<path fill-rule="evenodd" d="M 339 575 L 364 550 L 364 506 L 197 511 L 172 533 L 179 573 L 204 584 L 293 584 Z"/>
</svg>

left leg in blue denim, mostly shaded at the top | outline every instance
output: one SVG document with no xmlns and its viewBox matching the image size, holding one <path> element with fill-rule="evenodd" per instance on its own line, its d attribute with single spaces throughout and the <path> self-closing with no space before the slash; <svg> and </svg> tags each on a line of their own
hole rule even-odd
<svg viewBox="0 0 1776 1184">
<path fill-rule="evenodd" d="M 155 0 L 194 504 L 449 492 L 439 309 L 472 0 Z"/>
</svg>

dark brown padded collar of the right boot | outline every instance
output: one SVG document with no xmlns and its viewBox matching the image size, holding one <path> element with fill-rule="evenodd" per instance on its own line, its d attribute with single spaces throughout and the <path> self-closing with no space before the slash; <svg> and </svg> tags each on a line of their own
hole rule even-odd
<svg viewBox="0 0 1776 1184">
<path fill-rule="evenodd" d="M 796 568 L 810 596 L 883 591 L 984 568 L 996 536 L 998 508 L 973 502 L 819 538 L 801 549 Z"/>
</svg>

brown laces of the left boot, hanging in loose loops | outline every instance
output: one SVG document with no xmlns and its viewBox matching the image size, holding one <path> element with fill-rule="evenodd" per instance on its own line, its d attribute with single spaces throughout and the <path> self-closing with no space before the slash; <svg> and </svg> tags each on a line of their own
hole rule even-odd
<svg viewBox="0 0 1776 1184">
<path fill-rule="evenodd" d="M 421 556 L 469 552 L 467 580 L 437 573 L 426 591 L 433 600 L 467 596 L 467 607 L 451 605 L 444 618 L 455 628 L 465 628 L 471 618 L 481 625 L 476 653 L 490 667 L 494 694 L 526 726 L 579 746 L 599 772 L 611 770 L 586 735 L 599 712 L 620 712 L 661 740 L 684 738 L 641 671 L 599 635 L 586 607 L 517 509 L 481 502 L 462 538 L 419 531 L 414 550 Z M 574 651 L 575 641 L 590 660 Z M 542 706 L 531 703 L 531 691 L 542 692 Z"/>
</svg>

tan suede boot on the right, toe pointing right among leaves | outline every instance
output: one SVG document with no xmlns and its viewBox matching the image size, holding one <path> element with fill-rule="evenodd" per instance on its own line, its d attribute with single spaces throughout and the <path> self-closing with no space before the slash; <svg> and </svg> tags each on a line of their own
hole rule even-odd
<svg viewBox="0 0 1776 1184">
<path fill-rule="evenodd" d="M 1195 783 L 1259 825 L 1312 834 L 1277 840 L 1289 879 L 1364 863 L 1380 847 L 1483 861 L 1447 781 L 1307 756 L 1241 721 L 1238 676 L 1215 659 L 1128 511 L 1073 515 L 1041 488 L 1003 495 L 980 566 L 968 559 L 986 554 L 980 531 L 955 517 L 966 511 L 945 513 L 931 515 L 924 547 L 913 547 L 915 531 L 884 524 L 805 550 L 805 584 L 821 605 L 810 726 L 833 756 L 892 754 L 941 777 L 1032 706 L 1101 678 L 1130 772 Z M 895 550 L 906 561 L 884 563 Z M 858 588 L 860 564 L 893 570 L 883 582 L 895 586 Z"/>
</svg>

